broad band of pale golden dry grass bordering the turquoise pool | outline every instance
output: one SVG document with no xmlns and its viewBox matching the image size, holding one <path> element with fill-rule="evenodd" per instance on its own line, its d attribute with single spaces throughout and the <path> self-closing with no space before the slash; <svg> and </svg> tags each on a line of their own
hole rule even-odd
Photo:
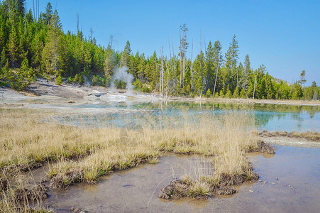
<svg viewBox="0 0 320 213">
<path fill-rule="evenodd" d="M 170 151 L 215 156 L 216 174 L 241 174 L 248 166 L 245 151 L 258 141 L 250 133 L 251 121 L 247 114 L 231 111 L 220 116 L 162 117 L 160 121 L 150 117 L 138 130 L 123 130 L 48 124 L 35 111 L 2 110 L 0 168 L 33 168 L 53 161 L 48 170 L 53 187 L 65 187 L 73 182 L 96 182 L 101 175 L 139 163 L 156 163 L 163 151 Z M 194 190 L 205 185 L 194 185 Z"/>
</svg>

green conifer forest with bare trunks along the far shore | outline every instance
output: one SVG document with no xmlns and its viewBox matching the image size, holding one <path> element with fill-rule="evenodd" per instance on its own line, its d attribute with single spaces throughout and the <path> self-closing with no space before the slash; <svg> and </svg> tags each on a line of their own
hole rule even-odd
<svg viewBox="0 0 320 213">
<path fill-rule="evenodd" d="M 97 45 L 93 37 L 62 30 L 57 10 L 50 3 L 44 13 L 26 11 L 26 1 L 0 2 L 0 84 L 13 89 L 26 89 L 37 77 L 75 84 L 109 86 L 117 67 L 128 67 L 133 86 L 142 92 L 158 92 L 161 96 L 206 96 L 255 99 L 319 99 L 320 87 L 312 82 L 304 87 L 305 70 L 296 82 L 288 83 L 272 77 L 265 65 L 253 69 L 249 55 L 239 61 L 236 35 L 222 51 L 219 40 L 209 41 L 204 50 L 194 54 L 193 41 L 188 43 L 188 28 L 180 26 L 179 49 L 168 41 L 170 55 L 132 53 L 127 41 L 123 50 Z M 187 51 L 191 58 L 187 58 Z M 191 54 L 190 54 L 191 53 Z M 116 82 L 125 87 L 124 82 Z"/>
</svg>

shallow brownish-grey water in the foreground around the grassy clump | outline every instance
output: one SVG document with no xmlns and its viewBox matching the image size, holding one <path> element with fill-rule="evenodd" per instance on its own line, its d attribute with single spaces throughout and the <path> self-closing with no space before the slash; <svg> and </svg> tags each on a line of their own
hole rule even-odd
<svg viewBox="0 0 320 213">
<path fill-rule="evenodd" d="M 162 187 L 199 162 L 197 156 L 169 155 L 155 165 L 107 175 L 96 185 L 50 190 L 45 204 L 61 212 L 70 207 L 89 212 L 319 212 L 320 149 L 278 147 L 275 155 L 249 158 L 263 182 L 241 185 L 235 195 L 159 199 Z"/>
</svg>

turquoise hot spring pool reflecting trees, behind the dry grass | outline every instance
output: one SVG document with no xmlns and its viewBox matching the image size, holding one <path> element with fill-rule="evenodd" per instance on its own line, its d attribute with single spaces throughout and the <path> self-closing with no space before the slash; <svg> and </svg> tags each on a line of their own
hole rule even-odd
<svg viewBox="0 0 320 213">
<path fill-rule="evenodd" d="M 285 104 L 226 104 L 218 102 L 157 102 L 157 103 L 99 103 L 70 106 L 82 109 L 105 109 L 98 114 L 57 116 L 64 124 L 76 126 L 126 126 L 150 124 L 153 128 L 165 125 L 170 119 L 175 125 L 184 119 L 197 124 L 201 116 L 246 114 L 255 121 L 255 128 L 268 131 L 320 131 L 320 108 Z M 111 109 L 111 111 L 110 111 Z M 170 118 L 170 119 L 167 119 Z M 191 118 L 191 119 L 190 119 Z M 169 120 L 169 121 L 168 121 Z M 181 121 L 181 122 L 180 122 Z M 172 124 L 173 125 L 173 124 Z"/>
</svg>

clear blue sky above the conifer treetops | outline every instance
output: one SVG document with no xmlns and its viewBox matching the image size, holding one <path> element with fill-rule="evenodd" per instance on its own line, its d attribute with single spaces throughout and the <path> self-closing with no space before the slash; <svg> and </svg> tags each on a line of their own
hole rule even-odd
<svg viewBox="0 0 320 213">
<path fill-rule="evenodd" d="M 220 40 L 226 53 L 233 34 L 238 40 L 239 60 L 250 56 L 253 68 L 260 64 L 270 75 L 294 82 L 306 70 L 307 84 L 320 84 L 320 1 L 99 1 L 51 0 L 65 32 L 77 31 L 77 13 L 85 36 L 93 28 L 97 44 L 123 50 L 126 40 L 133 53 L 152 55 L 155 50 L 169 55 L 168 38 L 175 54 L 179 46 L 179 26 L 189 31 L 188 56 L 192 39 L 194 55 L 204 41 Z M 48 0 L 40 0 L 45 11 Z M 27 6 L 33 1 L 27 0 Z"/>
</svg>

